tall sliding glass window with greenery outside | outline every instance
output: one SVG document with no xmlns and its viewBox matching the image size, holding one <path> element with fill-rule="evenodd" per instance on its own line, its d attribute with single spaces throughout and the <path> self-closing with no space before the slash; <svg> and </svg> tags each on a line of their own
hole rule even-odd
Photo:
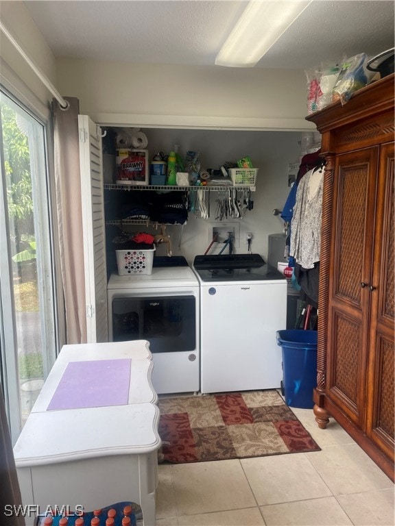
<svg viewBox="0 0 395 526">
<path fill-rule="evenodd" d="M 15 442 L 56 357 L 45 123 L 0 91 L 1 386 Z"/>
</svg>

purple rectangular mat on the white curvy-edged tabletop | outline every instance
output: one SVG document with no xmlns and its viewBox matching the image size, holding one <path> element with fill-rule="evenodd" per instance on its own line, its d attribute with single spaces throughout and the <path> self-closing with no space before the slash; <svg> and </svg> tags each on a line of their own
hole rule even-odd
<svg viewBox="0 0 395 526">
<path fill-rule="evenodd" d="M 47 411 L 127 404 L 131 361 L 69 362 Z"/>
</svg>

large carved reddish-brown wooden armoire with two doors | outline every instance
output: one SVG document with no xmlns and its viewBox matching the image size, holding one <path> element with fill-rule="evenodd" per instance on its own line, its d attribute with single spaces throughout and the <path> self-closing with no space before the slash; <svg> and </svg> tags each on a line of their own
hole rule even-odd
<svg viewBox="0 0 395 526">
<path fill-rule="evenodd" d="M 315 420 L 394 481 L 394 75 L 307 120 L 326 159 Z"/>
</svg>

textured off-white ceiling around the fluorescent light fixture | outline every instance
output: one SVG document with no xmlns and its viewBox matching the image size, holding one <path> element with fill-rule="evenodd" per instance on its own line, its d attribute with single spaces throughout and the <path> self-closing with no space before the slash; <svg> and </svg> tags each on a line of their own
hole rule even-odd
<svg viewBox="0 0 395 526">
<path fill-rule="evenodd" d="M 246 4 L 227 0 L 25 1 L 56 58 L 211 66 Z M 357 53 L 374 56 L 391 47 L 393 0 L 314 0 L 255 67 L 306 70 Z"/>
</svg>

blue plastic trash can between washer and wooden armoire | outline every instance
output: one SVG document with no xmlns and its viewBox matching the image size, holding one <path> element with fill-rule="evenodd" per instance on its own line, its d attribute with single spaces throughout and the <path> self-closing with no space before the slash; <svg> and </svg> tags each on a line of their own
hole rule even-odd
<svg viewBox="0 0 395 526">
<path fill-rule="evenodd" d="M 276 339 L 283 351 L 285 403 L 291 408 L 312 409 L 317 386 L 317 331 L 277 331 Z"/>
</svg>

